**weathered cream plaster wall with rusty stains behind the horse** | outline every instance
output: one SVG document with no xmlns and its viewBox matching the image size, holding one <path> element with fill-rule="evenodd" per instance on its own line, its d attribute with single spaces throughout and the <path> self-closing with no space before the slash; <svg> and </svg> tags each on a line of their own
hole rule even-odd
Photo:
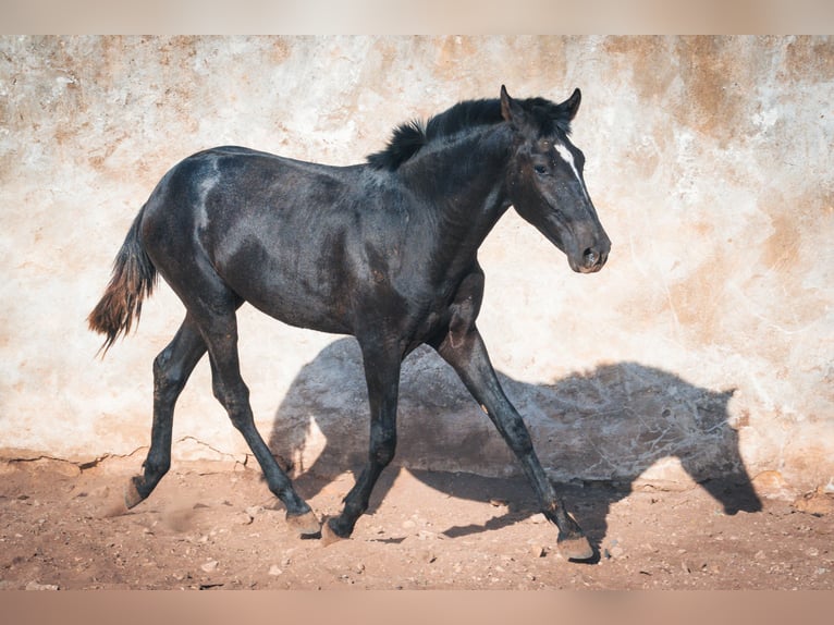
<svg viewBox="0 0 834 625">
<path fill-rule="evenodd" d="M 574 138 L 614 242 L 601 273 L 574 274 L 510 212 L 482 248 L 480 327 L 552 475 L 745 466 L 762 489 L 834 488 L 831 38 L 0 38 L 0 448 L 140 463 L 150 363 L 182 306 L 160 289 L 103 361 L 85 317 L 175 161 L 232 143 L 355 162 L 395 124 L 502 83 L 582 89 Z M 297 469 L 353 462 L 355 346 L 248 307 L 241 333 L 275 453 Z M 430 353 L 403 389 L 401 463 L 514 470 Z M 177 458 L 246 453 L 206 361 L 174 437 Z"/>
</svg>

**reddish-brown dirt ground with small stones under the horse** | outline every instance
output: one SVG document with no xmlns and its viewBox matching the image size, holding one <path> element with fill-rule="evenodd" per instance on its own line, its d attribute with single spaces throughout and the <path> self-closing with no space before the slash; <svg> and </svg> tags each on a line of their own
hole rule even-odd
<svg viewBox="0 0 834 625">
<path fill-rule="evenodd" d="M 563 487 L 599 551 L 574 563 L 523 479 L 390 468 L 354 536 L 323 546 L 290 534 L 259 470 L 175 465 L 130 512 L 127 471 L 0 465 L 0 589 L 834 589 L 831 494 L 727 515 L 701 487 Z M 321 516 L 353 479 L 296 483 Z"/>
</svg>

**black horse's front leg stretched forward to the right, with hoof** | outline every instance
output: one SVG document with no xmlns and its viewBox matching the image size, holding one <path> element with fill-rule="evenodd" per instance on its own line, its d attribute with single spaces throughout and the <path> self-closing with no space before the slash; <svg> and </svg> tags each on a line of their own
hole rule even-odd
<svg viewBox="0 0 834 625">
<path fill-rule="evenodd" d="M 522 463 L 536 490 L 544 516 L 559 527 L 559 548 L 569 560 L 588 560 L 593 548 L 579 525 L 567 513 L 562 499 L 544 474 L 530 433 L 518 412 L 507 400 L 490 363 L 487 348 L 474 320 L 454 319 L 452 329 L 440 345 L 440 355 L 454 367 L 464 384 L 504 438 Z"/>
</svg>

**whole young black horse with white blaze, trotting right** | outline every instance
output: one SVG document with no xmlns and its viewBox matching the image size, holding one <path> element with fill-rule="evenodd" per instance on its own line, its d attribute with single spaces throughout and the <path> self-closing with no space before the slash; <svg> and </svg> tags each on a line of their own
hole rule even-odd
<svg viewBox="0 0 834 625">
<path fill-rule="evenodd" d="M 303 536 L 348 537 L 396 445 L 402 360 L 426 343 L 452 365 L 520 461 L 569 559 L 593 551 L 565 511 L 506 399 L 475 320 L 483 294 L 478 247 L 512 205 L 567 256 L 574 271 L 605 264 L 611 242 L 588 196 L 582 152 L 568 140 L 578 89 L 564 102 L 459 102 L 393 133 L 352 167 L 301 162 L 241 147 L 191 156 L 139 211 L 90 312 L 107 351 L 150 295 L 159 272 L 185 319 L 154 361 L 154 426 L 144 473 L 125 503 L 147 498 L 171 464 L 174 404 L 208 351 L 213 393 L 243 434 L 269 489 Z M 255 428 L 241 378 L 235 311 L 249 302 L 286 323 L 353 334 L 370 403 L 367 464 L 322 527 Z"/>
</svg>

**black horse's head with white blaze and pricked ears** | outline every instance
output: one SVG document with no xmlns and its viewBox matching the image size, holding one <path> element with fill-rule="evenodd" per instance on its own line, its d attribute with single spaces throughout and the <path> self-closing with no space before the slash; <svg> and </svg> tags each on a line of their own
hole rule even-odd
<svg viewBox="0 0 834 625">
<path fill-rule="evenodd" d="M 585 156 L 567 137 L 580 99 L 576 89 L 560 105 L 543 98 L 514 100 L 501 87 L 501 114 L 515 133 L 510 199 L 565 253 L 571 269 L 591 273 L 605 265 L 611 240 L 585 186 Z"/>
</svg>

